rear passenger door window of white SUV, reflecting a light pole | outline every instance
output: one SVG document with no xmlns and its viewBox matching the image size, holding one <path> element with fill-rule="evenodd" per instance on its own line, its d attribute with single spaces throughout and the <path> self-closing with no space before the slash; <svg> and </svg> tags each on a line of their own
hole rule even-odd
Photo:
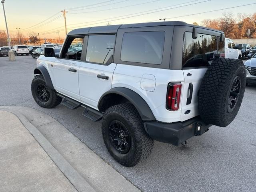
<svg viewBox="0 0 256 192">
<path fill-rule="evenodd" d="M 115 35 L 90 35 L 88 38 L 86 61 L 110 64 L 114 51 Z"/>
</svg>

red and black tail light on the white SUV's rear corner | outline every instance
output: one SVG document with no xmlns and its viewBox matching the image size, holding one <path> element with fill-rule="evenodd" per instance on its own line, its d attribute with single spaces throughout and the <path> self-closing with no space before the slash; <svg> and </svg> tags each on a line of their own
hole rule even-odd
<svg viewBox="0 0 256 192">
<path fill-rule="evenodd" d="M 166 96 L 166 109 L 177 111 L 180 106 L 181 83 L 169 83 Z"/>
</svg>

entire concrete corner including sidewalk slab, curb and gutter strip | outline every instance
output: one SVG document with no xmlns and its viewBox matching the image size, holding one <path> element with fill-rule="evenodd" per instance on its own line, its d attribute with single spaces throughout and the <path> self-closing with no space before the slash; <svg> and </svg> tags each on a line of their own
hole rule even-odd
<svg viewBox="0 0 256 192">
<path fill-rule="evenodd" d="M 137 192 L 52 117 L 0 107 L 0 191 Z"/>
</svg>

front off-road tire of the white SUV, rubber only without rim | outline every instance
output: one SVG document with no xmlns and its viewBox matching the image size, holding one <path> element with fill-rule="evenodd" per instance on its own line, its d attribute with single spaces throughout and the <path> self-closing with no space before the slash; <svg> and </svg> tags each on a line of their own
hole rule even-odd
<svg viewBox="0 0 256 192">
<path fill-rule="evenodd" d="M 32 96 L 39 106 L 44 107 L 44 108 L 53 108 L 53 107 L 57 106 L 58 104 L 60 104 L 60 102 L 62 101 L 62 98 L 57 96 L 56 91 L 51 90 L 50 88 L 48 88 L 48 91 L 50 93 L 49 99 L 46 102 L 43 102 L 42 100 L 40 100 L 38 98 L 38 94 L 36 92 L 38 84 L 44 84 L 47 88 L 48 88 L 48 86 L 46 85 L 46 82 L 42 75 L 36 75 L 34 77 L 34 79 L 32 80 L 32 83 L 31 83 Z"/>
</svg>

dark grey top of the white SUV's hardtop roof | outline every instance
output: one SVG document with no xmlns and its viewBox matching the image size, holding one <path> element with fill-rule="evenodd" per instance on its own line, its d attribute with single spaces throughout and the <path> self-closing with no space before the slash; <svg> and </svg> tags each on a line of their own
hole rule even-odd
<svg viewBox="0 0 256 192">
<path fill-rule="evenodd" d="M 220 33 L 224 33 L 222 31 L 207 28 L 203 26 L 191 25 L 182 21 L 165 21 L 165 22 L 148 22 L 148 23 L 135 23 L 135 24 L 122 24 L 122 25 L 106 25 L 106 26 L 96 26 L 96 27 L 87 27 L 87 28 L 79 28 L 74 29 L 68 33 L 68 35 L 82 35 L 82 34 L 102 34 L 102 33 L 116 33 L 118 29 L 122 28 L 138 28 L 138 27 L 154 27 L 154 26 L 191 26 L 197 28 L 203 28 L 208 30 L 217 31 Z"/>
</svg>

